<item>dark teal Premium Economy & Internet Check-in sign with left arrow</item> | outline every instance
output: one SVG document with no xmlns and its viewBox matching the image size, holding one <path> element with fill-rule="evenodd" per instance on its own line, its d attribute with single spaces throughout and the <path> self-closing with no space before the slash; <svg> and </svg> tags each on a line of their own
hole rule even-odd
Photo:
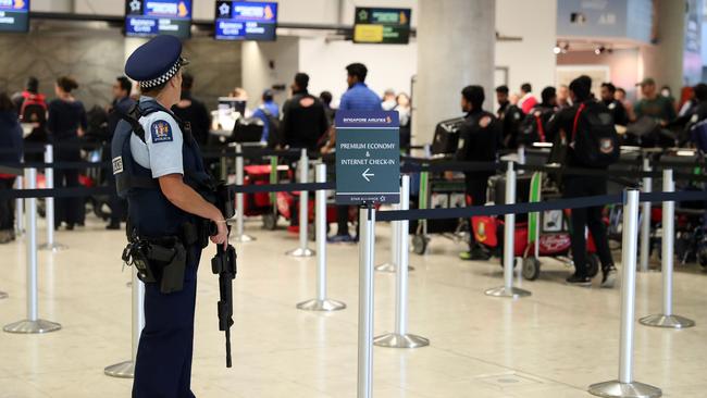
<svg viewBox="0 0 707 398">
<path fill-rule="evenodd" d="M 336 203 L 399 201 L 398 112 L 336 112 Z"/>
</svg>

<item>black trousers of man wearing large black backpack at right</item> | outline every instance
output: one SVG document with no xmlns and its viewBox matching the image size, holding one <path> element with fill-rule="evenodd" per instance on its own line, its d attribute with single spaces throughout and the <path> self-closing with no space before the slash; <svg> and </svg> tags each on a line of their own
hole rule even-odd
<svg viewBox="0 0 707 398">
<path fill-rule="evenodd" d="M 565 198 L 579 198 L 583 196 L 606 195 L 606 178 L 595 176 L 570 176 L 563 179 Z M 586 266 L 586 238 L 585 228 L 588 227 L 596 253 L 599 256 L 601 266 L 613 265 L 606 225 L 601 219 L 601 207 L 572 209 L 570 217 L 570 239 L 572 241 L 572 261 L 579 275 L 587 274 Z"/>
</svg>

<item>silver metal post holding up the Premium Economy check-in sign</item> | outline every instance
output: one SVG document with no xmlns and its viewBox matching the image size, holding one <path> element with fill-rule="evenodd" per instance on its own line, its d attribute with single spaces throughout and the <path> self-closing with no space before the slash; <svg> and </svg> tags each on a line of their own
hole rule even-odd
<svg viewBox="0 0 707 398">
<path fill-rule="evenodd" d="M 373 261 L 375 258 L 375 209 L 359 211 L 359 338 L 357 398 L 373 397 Z"/>
</svg>

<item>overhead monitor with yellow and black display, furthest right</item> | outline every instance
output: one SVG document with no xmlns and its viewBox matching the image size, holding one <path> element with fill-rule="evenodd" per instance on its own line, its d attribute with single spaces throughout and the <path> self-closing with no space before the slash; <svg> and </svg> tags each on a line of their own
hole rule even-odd
<svg viewBox="0 0 707 398">
<path fill-rule="evenodd" d="M 407 45 L 410 41 L 410 9 L 357 7 L 354 42 Z"/>
</svg>

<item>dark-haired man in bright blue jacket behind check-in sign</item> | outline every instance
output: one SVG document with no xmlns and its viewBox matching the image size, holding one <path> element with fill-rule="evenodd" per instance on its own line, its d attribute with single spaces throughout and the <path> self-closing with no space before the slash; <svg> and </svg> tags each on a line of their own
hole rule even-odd
<svg viewBox="0 0 707 398">
<path fill-rule="evenodd" d="M 369 86 L 365 85 L 365 77 L 369 74 L 368 67 L 362 63 L 352 63 L 346 66 L 346 83 L 348 90 L 342 96 L 338 104 L 339 111 L 361 111 L 376 112 L 382 111 L 382 101 Z M 336 134 L 332 134 L 330 145 L 335 145 Z M 336 235 L 327 238 L 330 242 L 355 242 L 358 240 L 358 233 L 352 237 L 348 232 L 349 207 L 336 207 Z"/>
</svg>

